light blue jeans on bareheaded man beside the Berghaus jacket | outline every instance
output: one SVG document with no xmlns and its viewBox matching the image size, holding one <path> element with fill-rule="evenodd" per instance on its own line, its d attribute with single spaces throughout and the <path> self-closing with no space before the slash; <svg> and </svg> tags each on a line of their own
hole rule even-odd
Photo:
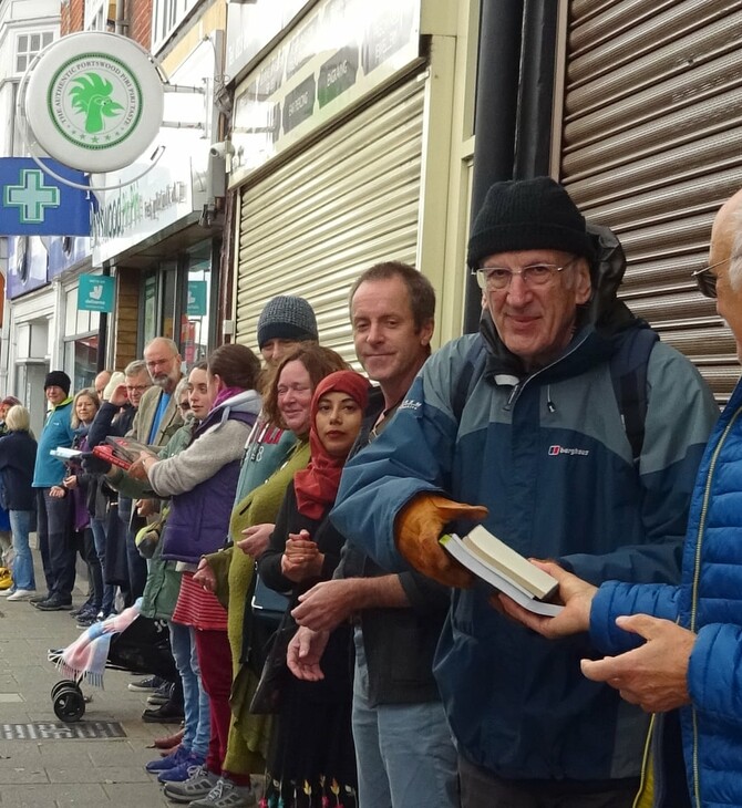
<svg viewBox="0 0 742 808">
<path fill-rule="evenodd" d="M 441 702 L 368 700 L 369 672 L 355 629 L 353 740 L 359 808 L 458 808 L 456 750 Z"/>
</svg>

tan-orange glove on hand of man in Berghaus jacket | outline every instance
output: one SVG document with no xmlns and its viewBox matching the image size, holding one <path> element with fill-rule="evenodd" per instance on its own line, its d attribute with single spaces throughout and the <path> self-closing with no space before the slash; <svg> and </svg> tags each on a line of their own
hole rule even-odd
<svg viewBox="0 0 742 808">
<path fill-rule="evenodd" d="M 454 519 L 482 521 L 487 509 L 464 505 L 436 494 L 418 494 L 396 515 L 396 549 L 420 572 L 446 587 L 471 587 L 474 576 L 441 547 L 443 528 Z"/>
</svg>

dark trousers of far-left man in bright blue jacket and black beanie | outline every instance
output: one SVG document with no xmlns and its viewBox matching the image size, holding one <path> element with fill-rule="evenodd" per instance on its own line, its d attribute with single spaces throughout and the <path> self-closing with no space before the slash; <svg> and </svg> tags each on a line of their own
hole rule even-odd
<svg viewBox="0 0 742 808">
<path fill-rule="evenodd" d="M 63 603 L 72 603 L 78 551 L 70 522 L 71 498 L 52 497 L 51 488 L 37 488 L 37 534 L 47 589 Z"/>
</svg>

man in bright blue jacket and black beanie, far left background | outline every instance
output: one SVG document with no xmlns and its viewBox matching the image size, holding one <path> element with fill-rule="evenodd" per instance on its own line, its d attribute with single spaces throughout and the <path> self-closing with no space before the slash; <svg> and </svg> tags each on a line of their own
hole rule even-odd
<svg viewBox="0 0 742 808">
<path fill-rule="evenodd" d="M 71 497 L 62 481 L 68 473 L 64 463 L 49 453 L 72 446 L 72 382 L 64 371 L 52 371 L 44 380 L 44 394 L 51 405 L 39 437 L 33 487 L 37 490 L 37 532 L 47 579 L 47 592 L 31 598 L 37 609 L 60 611 L 72 609 L 75 548 L 70 534 Z"/>
</svg>

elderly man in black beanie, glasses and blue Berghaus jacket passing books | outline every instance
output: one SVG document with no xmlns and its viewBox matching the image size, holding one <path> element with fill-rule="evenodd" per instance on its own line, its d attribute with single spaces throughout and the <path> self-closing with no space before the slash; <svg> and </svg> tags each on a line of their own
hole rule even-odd
<svg viewBox="0 0 742 808">
<path fill-rule="evenodd" d="M 718 417 L 693 366 L 616 291 L 625 261 L 547 177 L 495 184 L 471 234 L 481 331 L 434 354 L 343 472 L 333 522 L 382 567 L 454 587 L 434 662 L 464 808 L 628 808 L 646 715 L 503 617 L 439 543 L 473 520 L 594 583 L 678 580 Z M 628 391 L 628 393 L 627 393 Z"/>
</svg>

